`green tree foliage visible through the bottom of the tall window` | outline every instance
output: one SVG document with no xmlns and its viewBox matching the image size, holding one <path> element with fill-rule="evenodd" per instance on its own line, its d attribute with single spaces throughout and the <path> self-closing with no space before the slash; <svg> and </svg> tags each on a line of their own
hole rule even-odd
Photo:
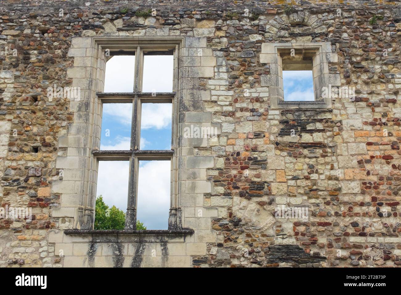
<svg viewBox="0 0 401 295">
<path fill-rule="evenodd" d="M 113 206 L 109 208 L 103 201 L 102 195 L 96 198 L 95 230 L 124 230 L 125 213 Z M 137 230 L 146 230 L 146 226 L 139 220 L 136 222 Z"/>
</svg>

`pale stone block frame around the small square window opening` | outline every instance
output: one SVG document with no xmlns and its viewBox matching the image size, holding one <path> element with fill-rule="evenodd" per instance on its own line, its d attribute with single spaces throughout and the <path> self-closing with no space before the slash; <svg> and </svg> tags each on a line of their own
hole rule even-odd
<svg viewBox="0 0 401 295">
<path fill-rule="evenodd" d="M 312 74 L 314 101 L 285 101 L 283 86 L 283 64 L 280 52 L 296 50 L 312 50 Z M 330 98 L 322 97 L 322 88 L 340 86 L 340 75 L 330 73 L 329 63 L 337 63 L 338 56 L 332 53 L 330 42 L 289 42 L 262 43 L 260 62 L 270 64 L 270 75 L 261 76 L 261 86 L 269 87 L 270 107 L 281 108 L 331 108 Z"/>
</svg>

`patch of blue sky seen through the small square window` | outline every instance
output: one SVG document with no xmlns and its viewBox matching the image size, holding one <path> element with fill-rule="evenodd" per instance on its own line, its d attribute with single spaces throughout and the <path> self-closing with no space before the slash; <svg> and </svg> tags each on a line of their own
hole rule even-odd
<svg viewBox="0 0 401 295">
<path fill-rule="evenodd" d="M 285 101 L 313 101 L 312 71 L 283 71 Z"/>
</svg>

